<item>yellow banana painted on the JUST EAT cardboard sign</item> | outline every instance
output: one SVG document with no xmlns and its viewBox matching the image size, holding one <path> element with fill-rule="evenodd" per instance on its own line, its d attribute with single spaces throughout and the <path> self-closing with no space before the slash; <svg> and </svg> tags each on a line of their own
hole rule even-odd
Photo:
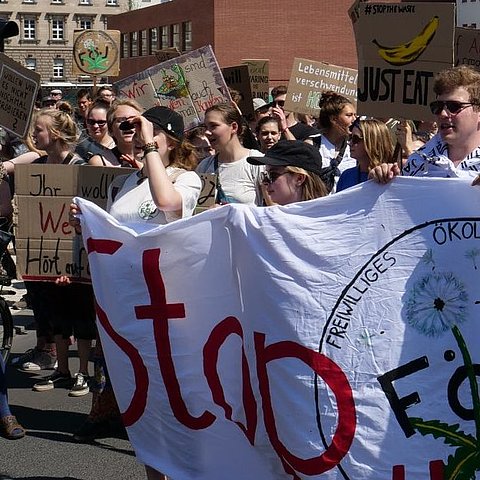
<svg viewBox="0 0 480 480">
<path fill-rule="evenodd" d="M 378 47 L 378 54 L 391 65 L 407 65 L 414 62 L 427 48 L 437 32 L 440 19 L 433 17 L 424 29 L 412 40 L 395 47 L 385 47 L 377 40 L 372 42 Z"/>
</svg>

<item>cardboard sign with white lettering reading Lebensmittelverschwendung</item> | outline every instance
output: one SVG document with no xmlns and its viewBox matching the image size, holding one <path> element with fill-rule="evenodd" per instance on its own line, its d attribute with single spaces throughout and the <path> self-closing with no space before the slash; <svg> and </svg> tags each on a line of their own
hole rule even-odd
<svg viewBox="0 0 480 480">
<path fill-rule="evenodd" d="M 285 110 L 318 117 L 322 92 L 332 90 L 357 101 L 357 70 L 295 58 L 288 82 Z"/>
</svg>

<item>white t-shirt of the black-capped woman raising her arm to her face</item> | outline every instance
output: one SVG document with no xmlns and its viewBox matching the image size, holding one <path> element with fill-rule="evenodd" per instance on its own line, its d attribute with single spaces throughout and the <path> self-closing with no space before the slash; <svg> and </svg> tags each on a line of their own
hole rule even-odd
<svg viewBox="0 0 480 480">
<path fill-rule="evenodd" d="M 179 172 L 183 173 L 179 174 Z M 200 177 L 195 172 L 167 167 L 167 175 L 175 178 L 173 187 L 182 196 L 182 211 L 177 212 L 164 212 L 156 207 L 148 179 L 139 173 L 134 172 L 127 176 L 113 202 L 112 188 L 110 189 L 107 211 L 113 217 L 121 222 L 148 222 L 164 225 L 180 218 L 192 216 L 202 189 Z M 115 186 L 115 181 L 112 186 Z"/>
</svg>

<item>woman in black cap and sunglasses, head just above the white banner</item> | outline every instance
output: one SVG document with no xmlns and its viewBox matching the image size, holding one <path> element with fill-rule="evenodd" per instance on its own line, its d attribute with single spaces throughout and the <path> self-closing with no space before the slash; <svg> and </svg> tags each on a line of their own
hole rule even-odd
<svg viewBox="0 0 480 480">
<path fill-rule="evenodd" d="M 300 140 L 280 140 L 264 157 L 249 157 L 252 165 L 266 165 L 262 184 L 272 202 L 287 205 L 328 195 L 320 178 L 318 148 Z"/>
</svg>

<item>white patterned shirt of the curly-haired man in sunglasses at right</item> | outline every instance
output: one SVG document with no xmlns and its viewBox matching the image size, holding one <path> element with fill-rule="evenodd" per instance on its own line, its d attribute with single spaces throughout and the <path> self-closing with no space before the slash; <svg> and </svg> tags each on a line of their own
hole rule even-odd
<svg viewBox="0 0 480 480">
<path fill-rule="evenodd" d="M 413 152 L 402 169 L 410 177 L 474 178 L 480 174 L 480 146 L 457 166 L 448 158 L 448 144 L 439 133 Z"/>
</svg>

